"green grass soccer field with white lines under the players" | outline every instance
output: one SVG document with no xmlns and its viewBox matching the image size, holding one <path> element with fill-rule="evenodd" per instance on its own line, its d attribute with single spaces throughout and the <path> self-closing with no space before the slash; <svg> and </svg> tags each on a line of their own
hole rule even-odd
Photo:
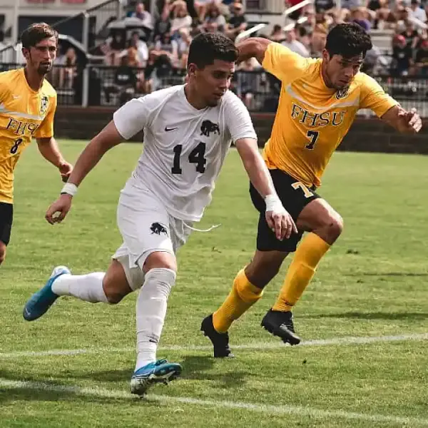
<svg viewBox="0 0 428 428">
<path fill-rule="evenodd" d="M 68 161 L 83 143 L 62 141 Z M 286 347 L 260 327 L 288 263 L 230 330 L 236 358 L 214 360 L 200 321 L 255 248 L 257 215 L 231 151 L 213 203 L 178 253 L 158 357 L 183 376 L 129 394 L 135 295 L 116 306 L 59 299 L 21 312 L 54 265 L 105 270 L 121 237 L 119 190 L 141 145 L 114 148 L 81 185 L 65 223 L 44 220 L 58 173 L 33 144 L 16 170 L 15 220 L 0 267 L 0 427 L 428 427 L 428 158 L 336 153 L 320 194 L 345 220 L 302 300 Z"/>
</svg>

